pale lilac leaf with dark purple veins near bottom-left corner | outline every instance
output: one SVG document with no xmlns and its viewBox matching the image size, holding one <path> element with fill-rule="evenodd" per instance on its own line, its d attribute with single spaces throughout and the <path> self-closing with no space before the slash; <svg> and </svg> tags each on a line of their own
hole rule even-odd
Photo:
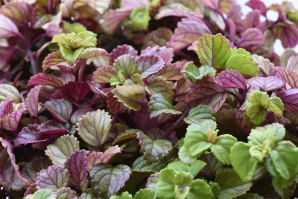
<svg viewBox="0 0 298 199">
<path fill-rule="evenodd" d="M 63 166 L 52 165 L 44 171 L 39 172 L 36 181 L 37 189 L 50 189 L 56 191 L 61 187 L 66 187 L 69 183 L 68 170 Z"/>
</svg>

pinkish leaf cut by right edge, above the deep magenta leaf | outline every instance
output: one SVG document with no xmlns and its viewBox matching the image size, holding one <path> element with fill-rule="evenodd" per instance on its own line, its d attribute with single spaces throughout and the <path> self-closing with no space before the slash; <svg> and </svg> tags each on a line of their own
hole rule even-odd
<svg viewBox="0 0 298 199">
<path fill-rule="evenodd" d="M 286 68 L 275 67 L 276 75 L 283 80 L 286 86 L 290 88 L 298 88 L 298 74 Z M 286 87 L 286 88 L 287 88 Z"/>
</svg>

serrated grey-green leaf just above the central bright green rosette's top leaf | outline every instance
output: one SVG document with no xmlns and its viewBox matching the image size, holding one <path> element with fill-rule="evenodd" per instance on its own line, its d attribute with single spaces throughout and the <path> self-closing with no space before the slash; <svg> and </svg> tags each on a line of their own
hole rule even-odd
<svg viewBox="0 0 298 199">
<path fill-rule="evenodd" d="M 205 120 L 216 121 L 215 112 L 213 109 L 206 105 L 197 105 L 194 108 L 190 109 L 187 117 L 185 117 L 184 122 L 188 125 L 191 124 L 200 124 Z"/>
</svg>

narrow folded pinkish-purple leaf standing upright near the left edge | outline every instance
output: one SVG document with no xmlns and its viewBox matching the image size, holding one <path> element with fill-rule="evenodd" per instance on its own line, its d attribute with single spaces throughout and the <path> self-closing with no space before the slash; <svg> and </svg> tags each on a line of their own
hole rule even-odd
<svg viewBox="0 0 298 199">
<path fill-rule="evenodd" d="M 41 86 L 36 86 L 30 90 L 25 100 L 27 111 L 31 116 L 38 117 L 38 96 Z"/>
</svg>

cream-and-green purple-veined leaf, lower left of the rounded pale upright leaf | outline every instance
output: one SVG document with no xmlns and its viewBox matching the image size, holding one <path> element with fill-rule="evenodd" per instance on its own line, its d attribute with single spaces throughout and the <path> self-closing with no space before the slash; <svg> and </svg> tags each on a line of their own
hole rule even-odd
<svg viewBox="0 0 298 199">
<path fill-rule="evenodd" d="M 63 166 L 75 150 L 79 150 L 79 141 L 73 135 L 62 135 L 54 144 L 48 145 L 45 154 L 49 156 L 52 162 L 56 165 Z"/>
</svg>

